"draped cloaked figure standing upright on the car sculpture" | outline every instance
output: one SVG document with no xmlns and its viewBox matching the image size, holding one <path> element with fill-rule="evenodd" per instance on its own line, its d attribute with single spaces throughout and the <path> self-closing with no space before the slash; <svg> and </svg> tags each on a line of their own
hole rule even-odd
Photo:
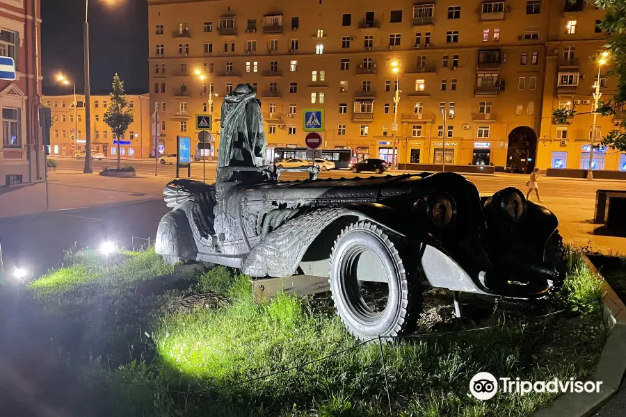
<svg viewBox="0 0 626 417">
<path fill-rule="evenodd" d="M 249 84 L 239 84 L 222 102 L 218 167 L 262 167 L 266 139 L 261 101 Z"/>
</svg>

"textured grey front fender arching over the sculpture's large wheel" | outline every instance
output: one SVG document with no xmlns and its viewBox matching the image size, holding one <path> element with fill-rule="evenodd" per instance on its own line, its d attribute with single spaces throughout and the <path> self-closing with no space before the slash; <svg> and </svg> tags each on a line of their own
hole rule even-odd
<svg viewBox="0 0 626 417">
<path fill-rule="evenodd" d="M 342 227 L 360 220 L 370 220 L 400 236 L 437 245 L 425 231 L 420 231 L 417 224 L 403 224 L 399 221 L 401 218 L 403 217 L 394 208 L 378 203 L 350 204 L 307 211 L 259 240 L 244 259 L 241 270 L 252 277 L 289 277 L 296 273 L 305 254 L 308 255 L 307 251 L 314 244 L 312 249 L 316 249 L 317 253 L 312 262 L 325 266 L 304 272 L 328 276 L 328 256 L 332 242 Z M 345 222 L 339 221 L 342 219 Z"/>
</svg>

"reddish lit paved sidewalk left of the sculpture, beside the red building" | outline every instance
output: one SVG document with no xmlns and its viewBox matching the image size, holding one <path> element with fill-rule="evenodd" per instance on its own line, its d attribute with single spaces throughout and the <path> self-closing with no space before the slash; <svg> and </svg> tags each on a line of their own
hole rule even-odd
<svg viewBox="0 0 626 417">
<path fill-rule="evenodd" d="M 113 178 L 95 174 L 58 171 L 49 174 L 49 210 L 67 210 L 103 204 L 124 204 L 163 198 L 163 177 Z M 0 218 L 43 213 L 45 183 L 0 194 Z"/>
</svg>

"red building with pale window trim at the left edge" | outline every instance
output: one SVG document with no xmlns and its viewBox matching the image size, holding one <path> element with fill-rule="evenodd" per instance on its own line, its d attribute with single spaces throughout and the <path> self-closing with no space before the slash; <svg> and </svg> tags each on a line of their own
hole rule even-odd
<svg viewBox="0 0 626 417">
<path fill-rule="evenodd" d="M 15 81 L 0 80 L 0 186 L 42 181 L 40 0 L 0 3 L 0 56 L 15 60 Z"/>
</svg>

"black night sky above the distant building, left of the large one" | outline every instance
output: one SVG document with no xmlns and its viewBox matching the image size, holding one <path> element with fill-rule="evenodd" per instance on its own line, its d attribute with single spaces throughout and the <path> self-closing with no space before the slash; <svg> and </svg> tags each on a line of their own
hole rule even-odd
<svg viewBox="0 0 626 417">
<path fill-rule="evenodd" d="M 125 82 L 127 92 L 147 92 L 147 1 L 89 3 L 92 94 L 109 91 L 115 72 Z M 70 93 L 68 88 L 56 85 L 57 72 L 67 74 L 76 83 L 77 92 L 82 93 L 85 0 L 43 0 L 41 13 L 44 94 Z"/>
</svg>

